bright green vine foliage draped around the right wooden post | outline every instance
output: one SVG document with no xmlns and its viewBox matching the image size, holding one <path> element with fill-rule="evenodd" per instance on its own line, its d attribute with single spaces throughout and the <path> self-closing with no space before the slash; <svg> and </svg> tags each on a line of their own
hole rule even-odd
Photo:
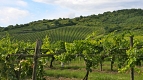
<svg viewBox="0 0 143 80">
<path fill-rule="evenodd" d="M 136 68 L 136 66 L 141 66 L 141 61 L 143 60 L 142 43 L 143 43 L 142 41 L 135 39 L 133 47 L 126 51 L 128 59 L 126 60 L 125 67 L 120 69 L 120 72 L 127 71 L 130 68 Z M 137 68 L 136 71 L 138 73 L 141 72 Z"/>
</svg>

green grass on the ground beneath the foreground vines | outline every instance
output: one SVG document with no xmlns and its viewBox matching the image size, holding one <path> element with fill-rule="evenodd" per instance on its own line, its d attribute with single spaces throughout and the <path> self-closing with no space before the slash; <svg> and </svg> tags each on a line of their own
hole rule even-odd
<svg viewBox="0 0 143 80">
<path fill-rule="evenodd" d="M 70 63 L 66 63 L 64 67 L 60 67 L 59 62 L 54 62 L 54 68 L 46 68 L 46 76 L 65 78 L 76 78 L 76 80 L 82 80 L 86 74 L 85 64 L 81 60 L 75 60 Z M 141 74 L 135 73 L 135 80 L 142 80 Z M 66 80 L 66 79 L 65 79 Z M 71 79 L 72 80 L 72 79 Z M 110 63 L 105 62 L 103 65 L 103 71 L 97 67 L 89 74 L 89 80 L 130 80 L 130 71 L 126 73 L 118 73 L 116 63 L 114 71 L 110 71 Z"/>
</svg>

